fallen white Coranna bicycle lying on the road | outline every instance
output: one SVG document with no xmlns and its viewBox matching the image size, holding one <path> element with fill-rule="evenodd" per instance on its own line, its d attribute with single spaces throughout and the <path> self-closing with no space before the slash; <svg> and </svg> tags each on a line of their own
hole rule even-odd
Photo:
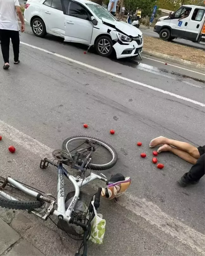
<svg viewBox="0 0 205 256">
<path fill-rule="evenodd" d="M 58 218 L 58 227 L 67 234 L 78 236 L 83 240 L 75 256 L 87 255 L 87 240 L 90 236 L 90 222 L 95 216 L 95 209 L 100 206 L 100 196 L 114 199 L 129 187 L 131 180 L 122 175 L 112 176 L 110 180 L 102 173 L 92 173 L 92 170 L 107 170 L 117 162 L 117 153 L 113 147 L 102 140 L 74 136 L 67 138 L 62 150 L 54 150 L 53 160 L 44 158 L 40 168 L 45 169 L 49 164 L 58 169 L 57 198 L 51 194 L 34 189 L 11 177 L 0 176 L 0 206 L 16 210 L 28 210 L 35 216 L 46 221 L 51 216 Z M 68 166 L 76 170 L 72 176 L 64 168 Z M 88 173 L 88 175 L 87 175 Z M 65 197 L 64 176 L 72 183 L 74 191 Z M 81 191 L 81 187 L 99 179 L 107 184 L 105 189 L 98 188 L 95 195 Z M 94 204 L 91 204 L 94 201 Z M 52 220 L 52 219 L 51 219 Z M 83 237 L 83 238 L 82 238 Z M 84 247 L 83 254 L 80 253 Z"/>
</svg>

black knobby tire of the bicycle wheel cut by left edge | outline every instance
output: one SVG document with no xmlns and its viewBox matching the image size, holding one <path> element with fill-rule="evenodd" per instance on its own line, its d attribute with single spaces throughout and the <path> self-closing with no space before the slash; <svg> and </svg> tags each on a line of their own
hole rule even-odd
<svg viewBox="0 0 205 256">
<path fill-rule="evenodd" d="M 4 178 L 2 176 L 0 176 L 0 178 L 3 179 L 4 181 L 6 180 L 6 178 Z M 0 183 L 0 185 L 1 185 L 1 183 Z M 12 186 L 12 188 L 14 189 L 15 187 Z M 17 189 L 17 188 L 15 188 L 15 189 Z M 1 197 L 1 191 L 2 190 L 0 189 L 0 207 L 2 207 L 2 208 L 31 211 L 33 209 L 40 208 L 44 204 L 44 202 L 38 201 L 38 200 L 33 200 L 33 201 L 15 201 L 15 200 L 10 200 L 10 199 L 6 199 L 6 198 L 2 198 Z"/>
</svg>

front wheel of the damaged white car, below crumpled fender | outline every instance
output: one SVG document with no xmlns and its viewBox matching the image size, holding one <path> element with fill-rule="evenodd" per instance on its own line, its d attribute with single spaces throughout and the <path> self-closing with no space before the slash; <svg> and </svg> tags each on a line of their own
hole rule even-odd
<svg viewBox="0 0 205 256">
<path fill-rule="evenodd" d="M 109 36 L 102 35 L 97 39 L 96 52 L 103 57 L 109 57 L 112 54 L 113 43 Z"/>
</svg>

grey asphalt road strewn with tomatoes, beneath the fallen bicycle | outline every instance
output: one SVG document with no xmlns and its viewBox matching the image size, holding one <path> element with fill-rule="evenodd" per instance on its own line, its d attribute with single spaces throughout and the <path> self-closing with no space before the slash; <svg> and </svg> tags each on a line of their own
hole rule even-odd
<svg viewBox="0 0 205 256">
<path fill-rule="evenodd" d="M 55 195 L 54 168 L 39 169 L 44 148 L 60 148 L 73 135 L 100 138 L 119 156 L 115 167 L 103 173 L 121 172 L 132 185 L 118 203 L 102 200 L 105 241 L 89 244 L 88 255 L 205 255 L 204 179 L 178 187 L 177 179 L 191 165 L 162 153 L 158 159 L 165 168 L 158 170 L 148 147 L 160 135 L 204 144 L 205 75 L 148 56 L 137 63 L 84 54 L 86 47 L 53 36 L 24 33 L 21 42 L 20 65 L 11 61 L 10 69 L 0 72 L 1 175 Z M 8 152 L 9 144 L 16 146 L 15 154 Z M 147 158 L 140 158 L 142 151 Z M 45 255 L 76 252 L 76 242 L 51 222 L 3 209 L 0 216 Z"/>
</svg>

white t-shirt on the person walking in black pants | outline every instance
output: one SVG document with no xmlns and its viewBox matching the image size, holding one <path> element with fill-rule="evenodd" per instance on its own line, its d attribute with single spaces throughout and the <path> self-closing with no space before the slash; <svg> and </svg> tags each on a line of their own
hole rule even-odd
<svg viewBox="0 0 205 256">
<path fill-rule="evenodd" d="M 18 0 L 0 0 L 0 29 L 19 31 L 15 6 Z"/>
</svg>

